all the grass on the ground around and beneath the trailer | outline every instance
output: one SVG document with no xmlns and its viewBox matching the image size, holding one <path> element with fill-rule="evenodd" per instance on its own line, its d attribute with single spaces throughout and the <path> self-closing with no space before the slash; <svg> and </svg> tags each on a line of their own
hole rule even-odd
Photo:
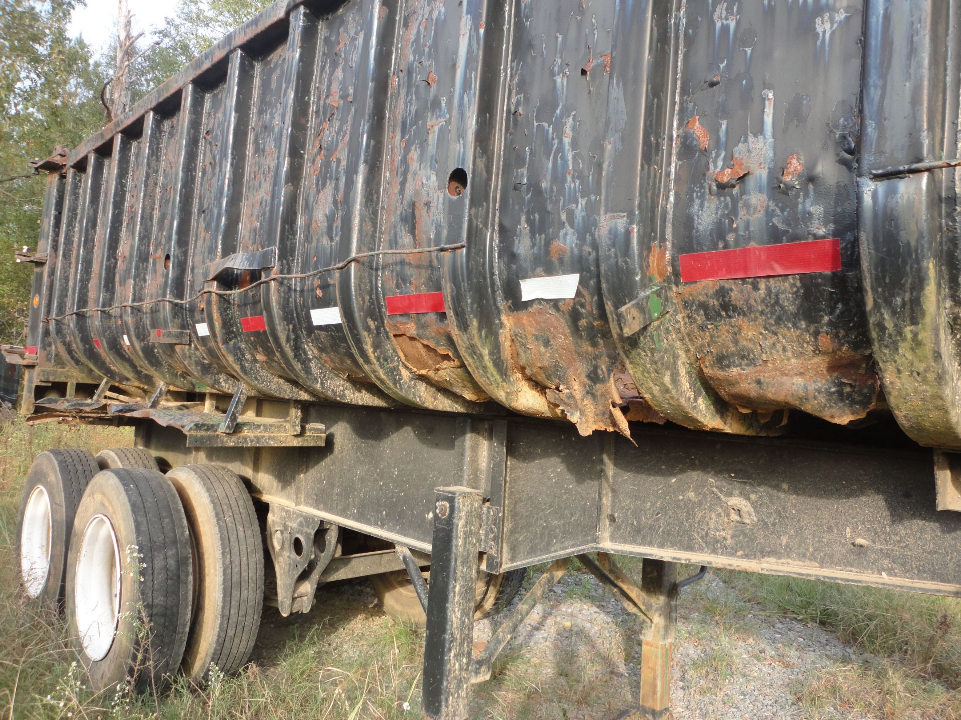
<svg viewBox="0 0 961 720">
<path fill-rule="evenodd" d="M 232 677 L 215 674 L 205 687 L 180 680 L 160 696 L 91 693 L 72 665 L 71 643 L 57 613 L 22 601 L 12 549 L 20 485 L 43 449 L 95 452 L 131 442 L 123 429 L 0 424 L 0 719 L 421 716 L 423 637 L 372 607 L 363 581 L 321 588 L 307 615 L 284 619 L 265 609 L 254 657 Z M 625 559 L 623 566 L 636 577 L 640 563 Z M 563 600 L 593 602 L 598 596 L 593 581 L 578 564 L 573 571 Z M 860 713 L 882 720 L 961 720 L 957 601 L 751 574 L 720 577 L 729 591 L 695 585 L 681 600 L 687 619 L 678 627 L 678 642 L 700 651 L 686 669 L 697 680 L 689 691 L 727 692 L 756 639 L 749 615 L 787 615 L 824 626 L 875 656 L 867 664 L 833 664 L 804 679 L 797 696 L 809 717 Z M 509 649 L 495 663 L 494 678 L 474 687 L 472 717 L 603 718 L 628 707 L 636 692 L 640 644 L 632 618 L 620 619 L 613 636 L 603 638 L 577 621 L 559 627 L 550 643 Z M 634 668 L 628 675 L 616 670 L 622 660 Z"/>
</svg>

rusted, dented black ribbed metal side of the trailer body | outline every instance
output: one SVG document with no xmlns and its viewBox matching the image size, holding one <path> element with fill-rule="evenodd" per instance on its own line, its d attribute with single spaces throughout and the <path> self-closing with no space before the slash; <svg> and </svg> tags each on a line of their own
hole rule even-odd
<svg viewBox="0 0 961 720">
<path fill-rule="evenodd" d="M 145 394 L 961 447 L 959 33 L 956 0 L 279 3 L 53 167 L 28 345 Z M 840 269 L 681 277 L 816 240 Z"/>
</svg>

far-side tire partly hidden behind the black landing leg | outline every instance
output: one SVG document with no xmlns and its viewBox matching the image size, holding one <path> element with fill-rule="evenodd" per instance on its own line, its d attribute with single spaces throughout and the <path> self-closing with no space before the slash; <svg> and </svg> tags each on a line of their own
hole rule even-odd
<svg viewBox="0 0 961 720">
<path fill-rule="evenodd" d="M 525 570 L 512 570 L 501 575 L 478 572 L 477 607 L 474 619 L 480 620 L 492 612 L 503 610 L 514 599 L 524 582 Z M 425 573 L 429 578 L 430 573 Z M 407 570 L 385 572 L 370 579 L 374 592 L 381 601 L 383 612 L 415 630 L 427 627 L 427 614 L 420 604 Z"/>
</svg>

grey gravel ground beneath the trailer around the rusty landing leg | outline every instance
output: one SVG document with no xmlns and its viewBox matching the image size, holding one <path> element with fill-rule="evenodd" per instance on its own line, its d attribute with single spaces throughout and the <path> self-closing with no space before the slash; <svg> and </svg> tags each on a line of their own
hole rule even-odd
<svg viewBox="0 0 961 720">
<path fill-rule="evenodd" d="M 528 581 L 530 583 L 530 580 Z M 514 601 L 515 605 L 518 602 Z M 475 640 L 484 642 L 496 617 L 480 622 Z M 623 680 L 627 697 L 639 686 L 640 640 L 636 619 L 593 577 L 568 573 L 536 607 L 508 646 L 542 660 L 547 672 L 562 672 L 557 660 L 572 651 L 599 651 L 603 672 Z M 592 647 L 588 647 L 592 646 Z M 523 650 L 522 650 L 523 649 Z M 806 677 L 838 662 L 870 662 L 817 626 L 771 616 L 740 601 L 732 589 L 708 575 L 685 589 L 678 605 L 678 641 L 672 665 L 677 720 L 780 720 L 808 715 L 798 702 Z M 609 717 L 587 708 L 566 717 Z M 824 718 L 871 720 L 850 710 L 821 708 Z"/>
</svg>

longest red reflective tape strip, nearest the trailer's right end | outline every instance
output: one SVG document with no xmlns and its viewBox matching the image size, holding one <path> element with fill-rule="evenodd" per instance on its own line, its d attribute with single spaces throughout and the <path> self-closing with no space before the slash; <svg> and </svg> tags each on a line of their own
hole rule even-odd
<svg viewBox="0 0 961 720">
<path fill-rule="evenodd" d="M 834 273 L 841 270 L 841 240 L 809 240 L 681 255 L 680 281 Z"/>
</svg>

